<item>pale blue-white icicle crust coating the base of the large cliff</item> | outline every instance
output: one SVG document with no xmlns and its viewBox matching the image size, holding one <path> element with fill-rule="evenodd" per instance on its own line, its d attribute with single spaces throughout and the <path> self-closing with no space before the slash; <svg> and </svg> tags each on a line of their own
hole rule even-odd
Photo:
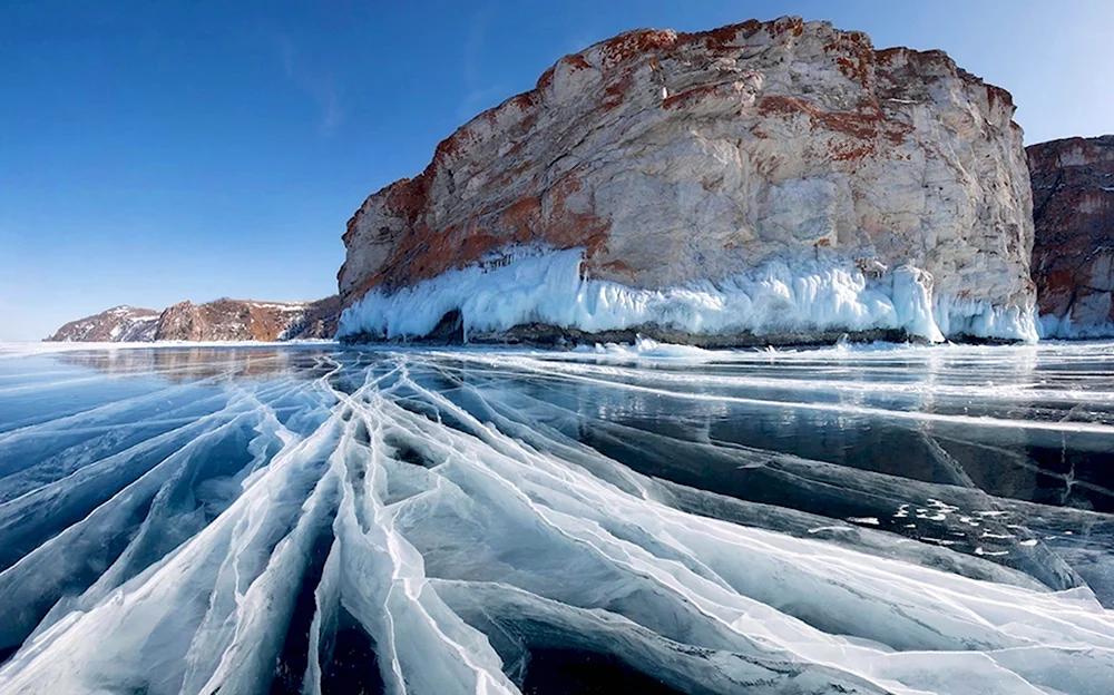
<svg viewBox="0 0 1114 695">
<path fill-rule="evenodd" d="M 927 274 L 911 266 L 876 278 L 834 257 L 772 261 L 719 283 L 638 290 L 586 280 L 580 249 L 519 249 L 509 257 L 393 294 L 372 292 L 344 311 L 339 336 L 422 336 L 456 310 L 466 337 L 543 323 L 587 332 L 653 324 L 698 335 L 896 329 L 930 342 L 958 334 L 1036 340 L 1025 312 L 939 297 L 934 303 Z"/>
</svg>

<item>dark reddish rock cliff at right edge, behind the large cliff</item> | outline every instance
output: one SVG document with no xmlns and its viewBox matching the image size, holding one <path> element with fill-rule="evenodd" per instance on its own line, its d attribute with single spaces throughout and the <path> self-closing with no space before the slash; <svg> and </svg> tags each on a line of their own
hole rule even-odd
<svg viewBox="0 0 1114 695">
<path fill-rule="evenodd" d="M 1045 335 L 1114 336 L 1114 135 L 1042 143 L 1026 153 Z"/>
</svg>

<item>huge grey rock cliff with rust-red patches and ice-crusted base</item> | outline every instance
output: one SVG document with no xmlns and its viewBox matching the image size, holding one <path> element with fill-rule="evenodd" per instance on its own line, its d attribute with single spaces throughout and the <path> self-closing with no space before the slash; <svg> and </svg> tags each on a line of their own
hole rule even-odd
<svg viewBox="0 0 1114 695">
<path fill-rule="evenodd" d="M 1032 197 L 1013 112 L 1009 94 L 940 51 L 876 50 L 825 22 L 627 32 L 566 56 L 534 90 L 443 140 L 419 176 L 364 202 L 343 237 L 341 333 L 421 334 L 443 316 L 404 319 L 434 309 L 496 333 L 538 317 L 587 329 L 576 316 L 599 315 L 584 305 L 547 313 L 546 297 L 502 292 L 497 304 L 519 302 L 502 311 L 433 292 L 447 273 L 579 249 L 580 281 L 609 283 L 568 293 L 582 304 L 693 287 L 722 303 L 715 293 L 739 277 L 772 287 L 785 265 L 814 291 L 791 280 L 746 294 L 763 316 L 778 314 L 768 304 L 779 296 L 839 304 L 850 292 L 859 306 L 803 325 L 740 319 L 696 332 L 932 334 L 901 317 L 925 311 L 901 297 L 925 294 L 945 334 L 1033 337 Z M 899 267 L 908 273 L 893 290 Z M 907 277 L 920 290 L 907 292 Z M 667 314 L 594 325 L 692 327 Z"/>
</svg>

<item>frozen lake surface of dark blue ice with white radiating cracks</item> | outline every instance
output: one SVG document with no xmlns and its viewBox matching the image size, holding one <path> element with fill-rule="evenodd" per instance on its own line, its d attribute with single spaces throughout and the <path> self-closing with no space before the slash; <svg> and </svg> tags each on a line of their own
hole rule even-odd
<svg viewBox="0 0 1114 695">
<path fill-rule="evenodd" d="M 0 693 L 1114 692 L 1114 343 L 0 345 Z"/>
</svg>

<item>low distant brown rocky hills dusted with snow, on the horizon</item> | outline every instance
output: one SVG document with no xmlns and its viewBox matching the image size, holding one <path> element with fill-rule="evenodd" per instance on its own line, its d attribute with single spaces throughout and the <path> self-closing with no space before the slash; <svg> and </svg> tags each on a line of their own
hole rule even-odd
<svg viewBox="0 0 1114 695">
<path fill-rule="evenodd" d="M 180 302 L 162 313 L 120 306 L 62 326 L 48 341 L 285 341 L 331 339 L 340 297 L 316 302 Z"/>
</svg>

